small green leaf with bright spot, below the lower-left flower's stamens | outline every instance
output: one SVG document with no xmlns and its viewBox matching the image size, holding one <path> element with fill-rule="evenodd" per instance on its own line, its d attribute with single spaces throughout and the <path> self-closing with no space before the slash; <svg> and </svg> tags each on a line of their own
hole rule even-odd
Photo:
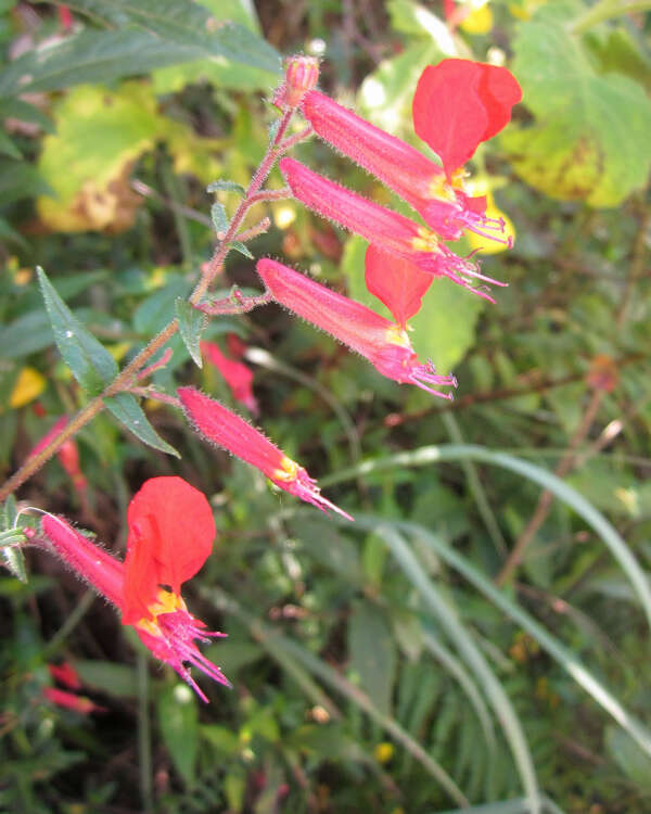
<svg viewBox="0 0 651 814">
<path fill-rule="evenodd" d="M 194 783 L 199 752 L 199 712 L 186 684 L 166 687 L 158 699 L 158 726 L 177 772 L 187 786 Z"/>
</svg>

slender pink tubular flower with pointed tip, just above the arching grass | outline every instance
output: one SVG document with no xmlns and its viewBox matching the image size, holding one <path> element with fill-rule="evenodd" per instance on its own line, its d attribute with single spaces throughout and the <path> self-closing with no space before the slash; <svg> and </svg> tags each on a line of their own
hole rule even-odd
<svg viewBox="0 0 651 814">
<path fill-rule="evenodd" d="M 179 387 L 177 393 L 188 420 L 206 441 L 256 467 L 271 483 L 291 495 L 312 504 L 321 511 L 336 511 L 347 520 L 353 520 L 320 494 L 317 482 L 303 467 L 288 458 L 282 449 L 243 418 L 194 387 Z"/>
</svg>

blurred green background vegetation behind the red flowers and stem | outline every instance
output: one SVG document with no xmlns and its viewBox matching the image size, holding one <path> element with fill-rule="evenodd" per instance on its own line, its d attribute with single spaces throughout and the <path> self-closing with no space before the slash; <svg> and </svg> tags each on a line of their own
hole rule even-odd
<svg viewBox="0 0 651 814">
<path fill-rule="evenodd" d="M 116 360 L 132 357 L 210 255 L 206 185 L 246 185 L 264 153 L 278 54 L 322 55 L 320 87 L 405 138 L 418 76 L 444 56 L 501 53 L 524 90 L 473 173 L 514 225 L 514 249 L 483 259 L 509 288 L 488 305 L 437 281 L 414 320 L 419 355 L 459 379 L 454 403 L 382 379 L 275 307 L 206 332 L 245 341 L 260 425 L 355 524 L 279 495 L 156 403 L 148 418 L 180 460 L 103 412 L 77 436 L 87 500 L 56 459 L 20 489 L 21 506 L 120 550 L 145 478 L 201 488 L 219 537 L 184 593 L 229 634 L 206 651 L 234 688 L 204 682 L 204 707 L 111 608 L 28 551 L 28 581 L 0 577 L 0 810 L 649 811 L 644 5 L 496 1 L 452 35 L 442 4 L 410 0 L 257 12 L 78 0 L 69 28 L 53 4 L 0 2 L 5 476 L 88 398 L 54 346 L 35 267 Z M 209 14 L 235 26 L 206 26 Z M 322 143 L 296 153 L 400 206 Z M 265 214 L 256 257 L 371 304 L 363 242 L 295 202 L 251 222 Z M 238 253 L 227 278 L 257 285 Z M 228 402 L 177 340 L 158 389 L 194 383 Z M 61 661 L 103 711 L 44 699 L 47 664 Z"/>
</svg>

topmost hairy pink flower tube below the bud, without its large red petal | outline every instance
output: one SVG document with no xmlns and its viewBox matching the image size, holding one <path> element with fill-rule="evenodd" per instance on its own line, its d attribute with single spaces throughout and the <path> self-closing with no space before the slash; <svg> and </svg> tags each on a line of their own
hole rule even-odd
<svg viewBox="0 0 651 814">
<path fill-rule="evenodd" d="M 303 114 L 320 138 L 400 195 L 444 240 L 458 240 L 470 229 L 507 242 L 500 238 L 502 224 L 485 215 L 486 199 L 465 194 L 461 174 L 448 180 L 410 144 L 316 90 L 306 94 Z"/>
</svg>

